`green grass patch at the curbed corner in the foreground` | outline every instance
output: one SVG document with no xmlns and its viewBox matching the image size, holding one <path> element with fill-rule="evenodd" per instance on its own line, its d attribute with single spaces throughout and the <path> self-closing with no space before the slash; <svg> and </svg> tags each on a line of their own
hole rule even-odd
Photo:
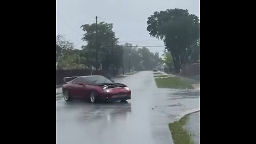
<svg viewBox="0 0 256 144">
<path fill-rule="evenodd" d="M 188 121 L 188 116 L 184 116 L 180 121 L 169 123 L 172 139 L 175 144 L 194 144 L 189 133 L 183 128 Z"/>
</svg>

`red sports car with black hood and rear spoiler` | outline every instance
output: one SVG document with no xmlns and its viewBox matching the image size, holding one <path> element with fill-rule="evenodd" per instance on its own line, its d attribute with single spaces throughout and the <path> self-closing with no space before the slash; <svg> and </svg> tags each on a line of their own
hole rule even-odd
<svg viewBox="0 0 256 144">
<path fill-rule="evenodd" d="M 67 79 L 73 79 L 67 82 Z M 94 103 L 97 100 L 126 101 L 131 99 L 131 90 L 125 84 L 114 83 L 104 76 L 65 77 L 62 86 L 63 98 L 87 99 Z"/>
</svg>

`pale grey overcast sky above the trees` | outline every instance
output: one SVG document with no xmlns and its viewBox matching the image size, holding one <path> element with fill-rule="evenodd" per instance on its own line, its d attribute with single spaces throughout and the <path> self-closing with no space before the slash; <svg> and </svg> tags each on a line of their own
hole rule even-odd
<svg viewBox="0 0 256 144">
<path fill-rule="evenodd" d="M 174 8 L 188 9 L 200 18 L 199 0 L 56 0 L 56 34 L 64 35 L 79 49 L 85 45 L 80 27 L 95 22 L 97 15 L 98 22 L 113 23 L 121 44 L 164 45 L 163 41 L 149 36 L 147 18 L 155 11 Z M 148 49 L 162 55 L 164 47 Z"/>
</svg>

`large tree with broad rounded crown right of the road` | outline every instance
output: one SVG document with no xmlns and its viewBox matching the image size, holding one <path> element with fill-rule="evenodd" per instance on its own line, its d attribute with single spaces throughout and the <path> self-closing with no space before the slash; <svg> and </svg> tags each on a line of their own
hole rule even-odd
<svg viewBox="0 0 256 144">
<path fill-rule="evenodd" d="M 169 9 L 154 12 L 147 24 L 150 36 L 164 40 L 178 73 L 181 65 L 189 61 L 191 45 L 200 37 L 199 18 L 188 10 Z"/>
</svg>

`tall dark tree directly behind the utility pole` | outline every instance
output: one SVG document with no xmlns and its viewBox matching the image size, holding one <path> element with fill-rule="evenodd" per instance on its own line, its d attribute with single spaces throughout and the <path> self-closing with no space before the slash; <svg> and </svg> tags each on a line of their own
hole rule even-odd
<svg viewBox="0 0 256 144">
<path fill-rule="evenodd" d="M 112 30 L 112 23 L 100 22 L 98 24 L 97 42 L 96 23 L 82 25 L 81 28 L 85 31 L 82 39 L 87 42 L 87 45 L 82 48 L 87 53 L 89 65 L 96 67 L 95 55 L 98 47 L 98 62 L 102 63 L 102 69 L 108 69 L 110 66 L 121 67 L 122 49 L 117 45 L 118 38 L 115 37 L 115 32 Z M 97 65 L 99 66 L 99 63 Z"/>
</svg>

